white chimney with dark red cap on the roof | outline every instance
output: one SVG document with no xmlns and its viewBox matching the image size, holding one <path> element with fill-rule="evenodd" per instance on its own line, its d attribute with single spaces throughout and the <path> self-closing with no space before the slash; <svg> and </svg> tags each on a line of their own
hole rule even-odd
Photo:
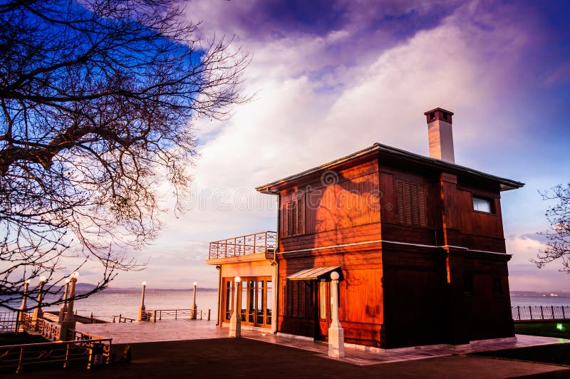
<svg viewBox="0 0 570 379">
<path fill-rule="evenodd" d="M 427 118 L 427 137 L 430 139 L 430 157 L 455 163 L 451 128 L 453 112 L 435 108 L 424 115 Z"/>
</svg>

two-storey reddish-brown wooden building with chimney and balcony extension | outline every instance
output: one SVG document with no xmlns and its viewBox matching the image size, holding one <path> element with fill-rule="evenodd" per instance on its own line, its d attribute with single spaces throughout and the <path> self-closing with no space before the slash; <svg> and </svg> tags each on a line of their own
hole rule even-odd
<svg viewBox="0 0 570 379">
<path fill-rule="evenodd" d="M 500 194 L 514 180 L 455 164 L 453 113 L 425 113 L 430 157 L 375 143 L 257 187 L 278 231 L 210 244 L 219 320 L 234 276 L 245 325 L 326 340 L 331 271 L 345 341 L 380 348 L 514 336 Z"/>
</svg>

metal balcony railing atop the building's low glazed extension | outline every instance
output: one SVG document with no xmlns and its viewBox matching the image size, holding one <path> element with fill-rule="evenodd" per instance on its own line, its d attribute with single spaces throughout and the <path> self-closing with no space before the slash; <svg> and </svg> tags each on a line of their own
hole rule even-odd
<svg viewBox="0 0 570 379">
<path fill-rule="evenodd" d="M 209 243 L 209 259 L 257 253 L 272 253 L 277 248 L 277 232 L 261 232 Z"/>
</svg>

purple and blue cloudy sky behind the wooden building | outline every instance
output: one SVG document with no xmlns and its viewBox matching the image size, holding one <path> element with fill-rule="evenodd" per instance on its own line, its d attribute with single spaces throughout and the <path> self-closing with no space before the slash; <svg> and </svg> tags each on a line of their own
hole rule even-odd
<svg viewBox="0 0 570 379">
<path fill-rule="evenodd" d="M 502 192 L 514 291 L 570 291 L 529 259 L 544 248 L 539 190 L 570 182 L 570 4 L 564 1 L 185 1 L 206 40 L 249 51 L 252 101 L 195 120 L 189 210 L 138 254 L 145 271 L 111 286 L 217 287 L 208 242 L 276 229 L 254 187 L 380 142 L 428 155 L 423 113 L 455 113 L 459 165 L 526 183 Z M 93 282 L 95 272 L 83 272 Z"/>
</svg>

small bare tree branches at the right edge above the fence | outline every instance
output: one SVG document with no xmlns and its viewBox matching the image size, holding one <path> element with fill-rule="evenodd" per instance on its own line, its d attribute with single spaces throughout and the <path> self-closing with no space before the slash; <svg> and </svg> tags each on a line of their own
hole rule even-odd
<svg viewBox="0 0 570 379">
<path fill-rule="evenodd" d="M 546 219 L 551 228 L 544 232 L 549 242 L 532 261 L 541 268 L 547 263 L 561 259 L 560 271 L 570 273 L 570 183 L 566 187 L 557 185 L 549 191 L 541 192 L 542 199 L 556 200 L 556 204 L 546 209 Z"/>
</svg>

